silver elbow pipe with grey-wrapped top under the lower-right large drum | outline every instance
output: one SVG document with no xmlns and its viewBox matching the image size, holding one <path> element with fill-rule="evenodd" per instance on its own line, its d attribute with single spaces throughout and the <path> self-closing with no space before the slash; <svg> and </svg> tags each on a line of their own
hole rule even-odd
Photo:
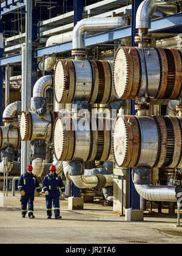
<svg viewBox="0 0 182 256">
<path fill-rule="evenodd" d="M 175 186 L 150 185 L 150 171 L 144 167 L 132 169 L 132 180 L 138 194 L 149 201 L 177 201 Z"/>
</svg>

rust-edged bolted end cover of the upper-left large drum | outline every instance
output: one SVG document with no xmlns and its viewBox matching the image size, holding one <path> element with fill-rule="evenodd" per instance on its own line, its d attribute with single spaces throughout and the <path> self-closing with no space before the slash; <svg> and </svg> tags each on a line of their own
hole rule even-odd
<svg viewBox="0 0 182 256">
<path fill-rule="evenodd" d="M 75 69 L 72 60 L 58 60 L 53 88 L 58 103 L 70 103 L 75 93 Z"/>
</svg>

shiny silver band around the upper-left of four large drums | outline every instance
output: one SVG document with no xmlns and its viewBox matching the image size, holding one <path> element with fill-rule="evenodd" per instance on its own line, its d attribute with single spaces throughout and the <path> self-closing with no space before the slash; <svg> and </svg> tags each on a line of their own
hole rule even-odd
<svg viewBox="0 0 182 256">
<path fill-rule="evenodd" d="M 92 70 L 88 60 L 73 60 L 76 74 L 74 101 L 89 101 L 92 92 Z"/>
</svg>

